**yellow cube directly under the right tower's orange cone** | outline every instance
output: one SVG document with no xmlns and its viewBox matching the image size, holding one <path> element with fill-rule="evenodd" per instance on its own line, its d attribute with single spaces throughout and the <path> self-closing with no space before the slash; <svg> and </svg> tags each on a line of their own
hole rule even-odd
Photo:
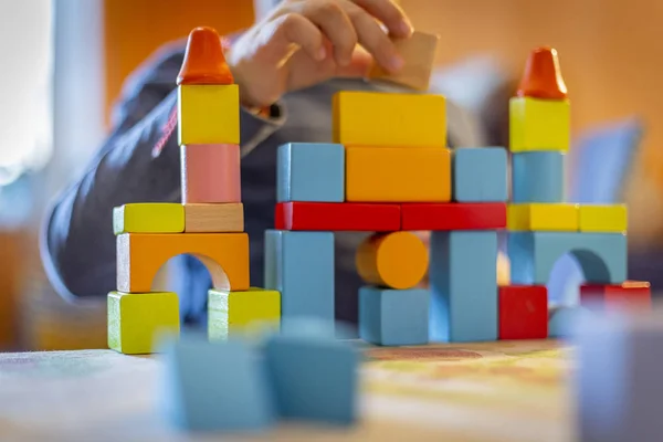
<svg viewBox="0 0 663 442">
<path fill-rule="evenodd" d="M 569 101 L 514 97 L 509 102 L 509 149 L 559 150 L 567 152 L 570 141 Z"/>
</svg>

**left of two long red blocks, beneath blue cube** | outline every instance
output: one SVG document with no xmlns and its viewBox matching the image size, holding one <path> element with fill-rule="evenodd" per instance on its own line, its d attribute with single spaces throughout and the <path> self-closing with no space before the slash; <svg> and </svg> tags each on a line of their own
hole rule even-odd
<svg viewBox="0 0 663 442">
<path fill-rule="evenodd" d="M 398 204 L 360 202 L 278 202 L 275 224 L 281 230 L 386 232 L 400 230 Z"/>
</svg>

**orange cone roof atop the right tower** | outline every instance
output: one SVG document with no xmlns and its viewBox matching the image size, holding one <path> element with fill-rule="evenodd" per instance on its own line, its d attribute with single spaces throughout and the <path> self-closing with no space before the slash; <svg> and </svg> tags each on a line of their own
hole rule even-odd
<svg viewBox="0 0 663 442">
<path fill-rule="evenodd" d="M 567 87 L 561 77 L 556 50 L 544 46 L 532 51 L 516 95 L 543 99 L 567 97 Z"/>
</svg>

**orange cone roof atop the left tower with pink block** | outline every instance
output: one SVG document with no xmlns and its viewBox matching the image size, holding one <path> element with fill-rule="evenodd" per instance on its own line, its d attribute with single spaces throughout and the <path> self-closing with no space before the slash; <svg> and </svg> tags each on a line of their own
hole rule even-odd
<svg viewBox="0 0 663 442">
<path fill-rule="evenodd" d="M 196 28 L 189 34 L 187 52 L 177 84 L 233 84 L 223 55 L 221 38 L 212 28 Z"/>
</svg>

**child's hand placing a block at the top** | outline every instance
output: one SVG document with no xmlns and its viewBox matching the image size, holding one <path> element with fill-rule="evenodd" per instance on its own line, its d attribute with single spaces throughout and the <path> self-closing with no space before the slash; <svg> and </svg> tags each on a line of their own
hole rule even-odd
<svg viewBox="0 0 663 442">
<path fill-rule="evenodd" d="M 372 60 L 397 72 L 402 60 L 376 19 L 391 35 L 412 32 L 391 0 L 284 0 L 229 51 L 242 104 L 262 107 L 332 77 L 360 77 Z"/>
</svg>

